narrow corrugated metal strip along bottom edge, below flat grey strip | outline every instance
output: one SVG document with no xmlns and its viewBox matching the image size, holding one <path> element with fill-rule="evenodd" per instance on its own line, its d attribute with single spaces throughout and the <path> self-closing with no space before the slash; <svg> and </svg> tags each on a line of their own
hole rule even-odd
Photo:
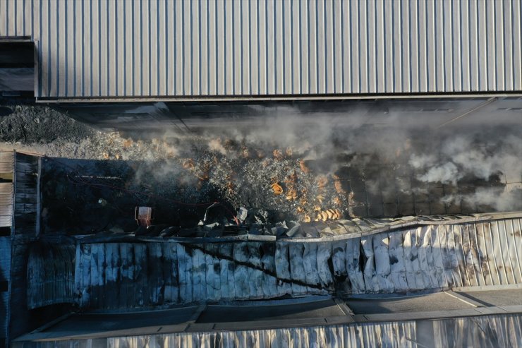
<svg viewBox="0 0 522 348">
<path fill-rule="evenodd" d="M 432 322 L 358 323 L 308 328 L 26 341 L 13 342 L 13 347 L 520 347 L 521 326 L 521 316 L 481 316 Z"/>
</svg>

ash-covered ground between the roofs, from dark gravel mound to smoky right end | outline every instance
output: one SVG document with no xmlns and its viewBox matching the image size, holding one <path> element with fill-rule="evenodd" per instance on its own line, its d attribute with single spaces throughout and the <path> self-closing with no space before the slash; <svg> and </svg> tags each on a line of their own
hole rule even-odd
<svg viewBox="0 0 522 348">
<path fill-rule="evenodd" d="M 205 212 L 233 223 L 241 207 L 263 224 L 522 209 L 516 122 L 440 130 L 396 115 L 389 128 L 288 109 L 246 126 L 118 133 L 14 109 L 0 119 L 1 150 L 47 156 L 47 231 L 130 232 L 136 205 L 154 207 L 154 224 L 187 228 Z"/>
</svg>

